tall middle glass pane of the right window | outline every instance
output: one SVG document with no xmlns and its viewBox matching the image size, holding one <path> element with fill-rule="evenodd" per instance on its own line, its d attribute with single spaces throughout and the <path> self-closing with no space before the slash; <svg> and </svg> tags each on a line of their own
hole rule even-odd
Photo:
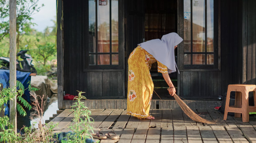
<svg viewBox="0 0 256 143">
<path fill-rule="evenodd" d="M 205 0 L 192 0 L 193 52 L 205 52 Z"/>
</svg>

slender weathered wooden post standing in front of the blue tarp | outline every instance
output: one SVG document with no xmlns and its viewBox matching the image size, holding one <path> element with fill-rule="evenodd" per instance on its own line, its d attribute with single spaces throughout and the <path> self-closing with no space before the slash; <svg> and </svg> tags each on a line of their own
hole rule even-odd
<svg viewBox="0 0 256 143">
<path fill-rule="evenodd" d="M 10 0 L 10 88 L 16 92 L 16 0 Z M 17 133 L 17 100 L 10 100 L 10 123 Z"/>
</svg>

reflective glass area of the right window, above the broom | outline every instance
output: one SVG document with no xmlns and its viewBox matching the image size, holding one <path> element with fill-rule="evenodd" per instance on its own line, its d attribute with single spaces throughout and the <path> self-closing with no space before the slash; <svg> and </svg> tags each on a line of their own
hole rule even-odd
<svg viewBox="0 0 256 143">
<path fill-rule="evenodd" d="M 214 64 L 213 5 L 214 0 L 184 0 L 184 65 Z"/>
</svg>

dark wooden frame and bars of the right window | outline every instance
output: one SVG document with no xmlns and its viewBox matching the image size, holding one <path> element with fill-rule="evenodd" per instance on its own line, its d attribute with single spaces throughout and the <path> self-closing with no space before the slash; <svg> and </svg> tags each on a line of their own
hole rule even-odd
<svg viewBox="0 0 256 143">
<path fill-rule="evenodd" d="M 207 1 L 207 0 L 205 0 Z M 178 48 L 179 57 L 178 63 L 179 68 L 181 71 L 219 71 L 220 70 L 220 10 L 219 10 L 219 3 L 218 0 L 214 0 L 214 51 L 213 52 L 206 52 L 207 50 L 207 38 L 205 38 L 205 52 L 192 52 L 192 0 L 190 0 L 190 7 L 191 7 L 191 48 L 190 52 L 184 52 L 184 44 L 178 45 L 180 48 Z M 207 3 L 206 3 L 207 4 Z M 178 20 L 178 32 L 181 37 L 184 38 L 184 2 L 183 0 L 179 0 L 180 10 L 179 10 L 179 20 Z M 206 6 L 206 5 L 205 5 Z M 207 12 L 207 8 L 205 8 L 205 13 Z M 207 37 L 207 14 L 205 14 L 205 37 Z M 191 54 L 190 62 L 191 64 L 184 64 L 184 54 Z M 192 64 L 192 58 L 193 54 L 204 54 L 205 55 L 205 64 Z M 207 54 L 214 54 L 214 64 L 207 64 Z"/>
</svg>

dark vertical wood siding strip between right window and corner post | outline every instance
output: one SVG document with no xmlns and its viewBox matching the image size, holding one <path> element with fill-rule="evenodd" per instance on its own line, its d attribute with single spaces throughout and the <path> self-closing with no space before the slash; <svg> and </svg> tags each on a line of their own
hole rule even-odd
<svg viewBox="0 0 256 143">
<path fill-rule="evenodd" d="M 241 84 L 241 0 L 221 0 L 221 87 Z"/>
</svg>

